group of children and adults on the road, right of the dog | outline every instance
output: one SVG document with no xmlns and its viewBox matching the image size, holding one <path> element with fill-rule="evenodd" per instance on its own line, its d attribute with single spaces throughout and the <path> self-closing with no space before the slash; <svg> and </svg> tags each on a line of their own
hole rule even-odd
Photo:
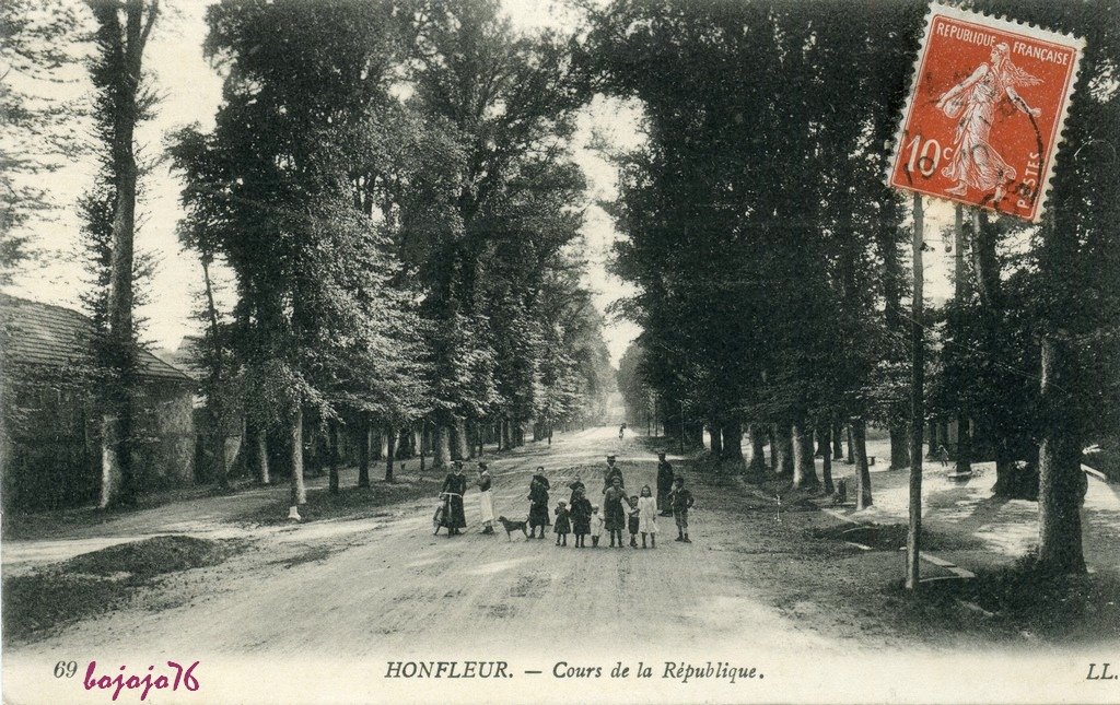
<svg viewBox="0 0 1120 705">
<path fill-rule="evenodd" d="M 610 460 L 613 461 L 613 457 Z M 549 525 L 548 490 L 550 486 L 543 472 L 544 468 L 538 468 L 536 474 L 530 482 L 530 538 L 544 538 L 544 527 Z M 657 499 L 653 496 L 648 485 L 642 488 L 641 495 L 627 497 L 622 482 L 622 472 L 610 463 L 607 483 L 603 491 L 604 510 L 600 513 L 599 506 L 592 505 L 587 498 L 587 488 L 577 476 L 576 480 L 568 486 L 571 489 L 570 500 L 557 502 L 553 511 L 556 515 L 553 526 L 557 537 L 556 545 L 567 546 L 568 534 L 575 534 L 576 547 L 585 548 L 587 536 L 590 535 L 591 547 L 597 548 L 603 530 L 607 529 L 610 535 L 610 547 L 622 548 L 625 546 L 623 530 L 626 529 L 629 533 L 631 547 L 637 548 L 637 536 L 641 534 L 642 548 L 656 548 Z M 684 487 L 684 478 L 674 478 L 673 489 L 669 494 L 669 502 L 676 521 L 676 540 L 692 543 L 688 533 L 688 511 L 692 507 L 693 498 L 692 492 Z M 536 535 L 538 528 L 540 528 L 540 536 Z"/>
</svg>

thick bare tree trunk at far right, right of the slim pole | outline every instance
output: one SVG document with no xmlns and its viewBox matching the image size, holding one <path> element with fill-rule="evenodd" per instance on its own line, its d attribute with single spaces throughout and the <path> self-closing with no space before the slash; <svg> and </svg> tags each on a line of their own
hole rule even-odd
<svg viewBox="0 0 1120 705">
<path fill-rule="evenodd" d="M 1084 573 L 1081 507 L 1088 480 L 1081 469 L 1079 410 L 1073 392 L 1074 346 L 1043 337 L 1043 442 L 1038 466 L 1038 563 L 1056 573 Z"/>
</svg>

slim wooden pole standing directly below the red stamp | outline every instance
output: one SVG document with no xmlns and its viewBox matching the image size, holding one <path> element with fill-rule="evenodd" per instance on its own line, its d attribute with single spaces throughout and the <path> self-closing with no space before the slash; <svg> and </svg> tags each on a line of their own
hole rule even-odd
<svg viewBox="0 0 1120 705">
<path fill-rule="evenodd" d="M 914 194 L 914 299 L 911 303 L 911 476 L 909 532 L 906 535 L 906 590 L 917 590 L 922 551 L 922 432 L 925 427 L 923 383 L 925 350 L 922 330 L 922 246 L 925 214 L 922 195 Z"/>
</svg>

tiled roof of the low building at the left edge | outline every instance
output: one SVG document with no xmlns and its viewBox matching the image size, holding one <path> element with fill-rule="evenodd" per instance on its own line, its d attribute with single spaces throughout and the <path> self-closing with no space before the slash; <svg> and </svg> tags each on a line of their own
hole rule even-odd
<svg viewBox="0 0 1120 705">
<path fill-rule="evenodd" d="M 4 357 L 16 364 L 60 367 L 80 363 L 87 352 L 93 321 L 72 309 L 0 293 Z M 149 379 L 190 383 L 190 376 L 147 350 L 140 351 L 140 375 Z"/>
</svg>

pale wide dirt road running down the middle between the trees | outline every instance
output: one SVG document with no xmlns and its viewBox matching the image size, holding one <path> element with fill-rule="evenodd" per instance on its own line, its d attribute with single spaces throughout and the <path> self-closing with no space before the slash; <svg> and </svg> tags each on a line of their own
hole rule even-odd
<svg viewBox="0 0 1120 705">
<path fill-rule="evenodd" d="M 648 450 L 619 441 L 612 429 L 596 429 L 494 462 L 497 513 L 526 515 L 529 478 L 539 464 L 553 483 L 553 506 L 567 498 L 576 473 L 594 499 L 608 452 L 618 454 L 632 491 L 655 485 L 656 459 Z M 142 643 L 166 651 L 195 643 L 218 654 L 344 649 L 360 656 L 430 651 L 442 641 L 498 647 L 548 639 L 573 626 L 588 643 L 610 642 L 628 623 L 641 624 L 652 642 L 708 643 L 771 632 L 775 641 L 822 643 L 752 600 L 749 564 L 729 551 L 737 537 L 724 530 L 720 516 L 706 511 L 702 498 L 692 519 L 696 543 L 674 542 L 672 519 L 661 518 L 661 540 L 648 551 L 577 549 L 570 539 L 562 548 L 552 535 L 508 540 L 501 527 L 496 536 L 480 535 L 474 488 L 466 496 L 467 534 L 433 536 L 433 507 L 435 498 L 389 507 L 372 520 L 258 533 L 249 552 L 222 566 L 188 571 L 142 604 L 19 650 L 114 652 Z M 172 530 L 185 528 L 176 523 Z"/>
</svg>

